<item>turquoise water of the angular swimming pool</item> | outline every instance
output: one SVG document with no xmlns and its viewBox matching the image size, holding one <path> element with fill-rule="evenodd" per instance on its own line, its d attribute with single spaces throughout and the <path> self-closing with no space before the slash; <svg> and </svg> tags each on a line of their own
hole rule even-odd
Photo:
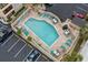
<svg viewBox="0 0 88 65">
<path fill-rule="evenodd" d="M 30 18 L 28 21 L 26 21 L 25 25 L 33 31 L 35 34 L 40 37 L 48 46 L 51 46 L 59 37 L 55 28 L 45 20 Z"/>
</svg>

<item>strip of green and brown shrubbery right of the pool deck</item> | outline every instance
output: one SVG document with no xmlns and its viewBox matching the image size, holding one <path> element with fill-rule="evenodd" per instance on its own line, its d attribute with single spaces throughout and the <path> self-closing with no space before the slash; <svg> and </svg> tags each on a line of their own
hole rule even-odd
<svg viewBox="0 0 88 65">
<path fill-rule="evenodd" d="M 79 62 L 82 61 L 82 56 L 80 54 L 78 54 L 78 51 L 80 50 L 80 46 L 82 44 L 84 41 L 88 40 L 88 24 L 86 24 L 85 26 L 82 26 L 80 29 L 80 33 L 79 33 L 79 40 L 77 42 L 76 47 L 74 48 L 71 54 L 67 54 L 63 57 L 63 61 L 66 62 Z"/>
</svg>

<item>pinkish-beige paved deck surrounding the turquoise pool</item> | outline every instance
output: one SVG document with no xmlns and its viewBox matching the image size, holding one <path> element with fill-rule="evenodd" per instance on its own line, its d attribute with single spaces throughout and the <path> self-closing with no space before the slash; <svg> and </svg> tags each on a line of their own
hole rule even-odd
<svg viewBox="0 0 88 65">
<path fill-rule="evenodd" d="M 60 50 L 60 46 L 70 37 L 67 37 L 65 34 L 63 34 L 63 30 L 62 30 L 62 23 L 60 22 L 60 20 L 58 21 L 57 24 L 53 24 L 52 21 L 50 19 L 45 19 L 45 18 L 40 18 L 38 17 L 37 13 L 35 13 L 33 11 L 31 11 L 31 13 L 29 13 L 29 15 L 26 17 L 26 19 L 21 22 L 19 22 L 17 24 L 18 21 L 16 21 L 12 26 L 13 29 L 16 29 L 16 26 L 25 26 L 25 22 L 29 19 L 29 18 L 35 18 L 35 19 L 38 19 L 38 20 L 45 20 L 47 21 L 48 23 L 50 23 L 57 31 L 57 33 L 59 34 L 59 37 L 56 40 L 56 42 L 51 45 L 51 46 L 47 46 L 31 30 L 29 31 L 29 36 L 32 36 L 37 42 L 38 42 L 38 45 L 40 45 L 41 47 L 43 47 L 46 50 L 46 52 L 49 54 L 52 50 L 58 50 L 58 51 L 61 51 Z M 58 18 L 59 19 L 59 18 Z M 14 26 L 16 25 L 16 26 Z M 77 30 L 74 30 L 72 28 L 70 28 L 70 31 L 71 31 L 71 34 L 76 36 L 76 34 L 78 33 Z M 74 33 L 72 33 L 74 32 Z M 25 36 L 23 34 L 21 35 L 23 39 L 27 39 L 28 36 Z M 71 48 L 70 47 L 67 47 L 68 48 Z M 58 57 L 57 57 L 58 58 Z"/>
</svg>

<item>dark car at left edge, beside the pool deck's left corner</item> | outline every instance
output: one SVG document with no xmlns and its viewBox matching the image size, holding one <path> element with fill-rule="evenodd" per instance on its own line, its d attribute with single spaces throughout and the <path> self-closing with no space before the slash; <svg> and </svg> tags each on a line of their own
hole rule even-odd
<svg viewBox="0 0 88 65">
<path fill-rule="evenodd" d="M 4 42 L 4 40 L 12 33 L 10 25 L 7 25 L 1 21 L 2 20 L 0 20 L 0 43 Z"/>
</svg>

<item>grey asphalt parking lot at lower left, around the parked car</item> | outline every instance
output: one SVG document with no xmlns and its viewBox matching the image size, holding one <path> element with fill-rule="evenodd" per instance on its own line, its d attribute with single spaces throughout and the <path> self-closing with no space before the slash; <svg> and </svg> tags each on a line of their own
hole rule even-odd
<svg viewBox="0 0 88 65">
<path fill-rule="evenodd" d="M 0 45 L 0 62 L 23 62 L 28 55 L 36 50 L 33 46 L 27 44 L 27 42 L 12 33 L 1 45 Z M 47 56 L 41 52 L 36 62 L 49 62 Z"/>
</svg>

